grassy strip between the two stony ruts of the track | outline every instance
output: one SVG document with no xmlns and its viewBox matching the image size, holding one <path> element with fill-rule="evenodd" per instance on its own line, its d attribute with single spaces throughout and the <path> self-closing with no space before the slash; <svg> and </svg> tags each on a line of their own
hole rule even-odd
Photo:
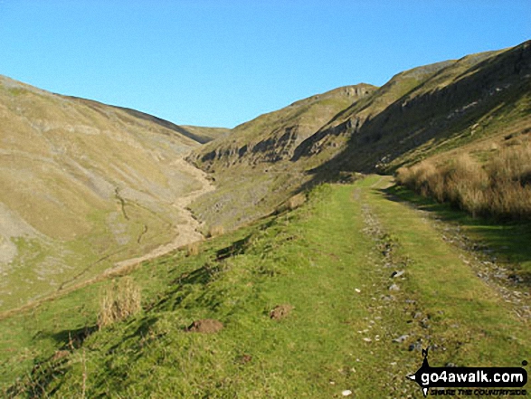
<svg viewBox="0 0 531 399">
<path fill-rule="evenodd" d="M 479 278 L 467 253 L 445 242 L 431 220 L 410 206 L 390 200 L 377 188 L 367 195 L 397 242 L 398 257 L 407 259 L 403 289 L 430 315 L 426 324 L 431 326 L 431 343 L 447 349 L 439 363 L 519 366 L 528 359 L 529 319 Z"/>
</svg>

